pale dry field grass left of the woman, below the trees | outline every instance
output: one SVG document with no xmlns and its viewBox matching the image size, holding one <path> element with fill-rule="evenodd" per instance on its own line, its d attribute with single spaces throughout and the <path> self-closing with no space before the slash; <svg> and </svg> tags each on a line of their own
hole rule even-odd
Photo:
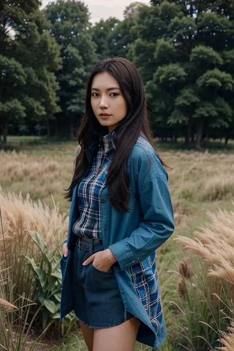
<svg viewBox="0 0 234 351">
<path fill-rule="evenodd" d="M 47 150 L 48 153 L 48 150 Z M 0 152 L 0 185 L 2 190 L 11 193 L 30 194 L 33 200 L 42 199 L 52 205 L 51 194 L 55 202 L 62 202 L 62 210 L 69 210 L 64 200 L 73 173 L 74 153 L 58 151 L 48 155 Z"/>
</svg>

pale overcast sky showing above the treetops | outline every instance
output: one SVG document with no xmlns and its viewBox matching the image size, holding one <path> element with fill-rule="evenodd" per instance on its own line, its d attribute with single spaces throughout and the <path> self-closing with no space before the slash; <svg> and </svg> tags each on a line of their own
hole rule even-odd
<svg viewBox="0 0 234 351">
<path fill-rule="evenodd" d="M 117 17 L 123 19 L 123 10 L 130 3 L 135 0 L 82 0 L 88 5 L 89 12 L 91 12 L 91 22 L 98 22 L 101 18 L 107 19 L 109 17 Z M 139 0 L 149 5 L 150 0 Z M 42 0 L 42 6 L 44 7 L 51 0 Z"/>
</svg>

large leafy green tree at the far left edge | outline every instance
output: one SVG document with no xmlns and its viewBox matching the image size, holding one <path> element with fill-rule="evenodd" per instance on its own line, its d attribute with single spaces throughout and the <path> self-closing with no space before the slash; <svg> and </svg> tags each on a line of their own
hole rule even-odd
<svg viewBox="0 0 234 351">
<path fill-rule="evenodd" d="M 24 117 L 48 120 L 59 111 L 54 71 L 59 48 L 38 0 L 0 3 L 0 128 Z"/>
</svg>

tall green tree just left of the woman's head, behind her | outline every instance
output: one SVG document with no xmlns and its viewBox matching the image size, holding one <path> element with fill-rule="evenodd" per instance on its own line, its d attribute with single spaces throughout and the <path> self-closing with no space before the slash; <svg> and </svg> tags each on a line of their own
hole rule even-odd
<svg viewBox="0 0 234 351">
<path fill-rule="evenodd" d="M 90 14 L 83 2 L 75 0 L 52 2 L 45 13 L 62 57 L 62 68 L 56 73 L 61 108 L 56 114 L 56 130 L 60 136 L 74 138 L 75 122 L 83 114 L 87 78 L 98 60 L 90 31 Z"/>
</svg>

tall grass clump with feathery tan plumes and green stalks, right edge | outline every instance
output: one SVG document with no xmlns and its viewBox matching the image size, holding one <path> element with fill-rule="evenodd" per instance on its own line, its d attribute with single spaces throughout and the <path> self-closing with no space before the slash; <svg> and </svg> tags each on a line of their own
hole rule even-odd
<svg viewBox="0 0 234 351">
<path fill-rule="evenodd" d="M 186 276 L 189 268 L 185 262 L 179 269 L 178 307 L 183 314 L 186 340 L 180 342 L 193 350 L 206 345 L 208 350 L 231 351 L 234 350 L 234 211 L 208 214 L 211 223 L 196 231 L 194 238 L 176 238 L 184 249 L 197 255 L 195 275 Z M 187 270 L 182 270 L 186 266 Z"/>
</svg>

